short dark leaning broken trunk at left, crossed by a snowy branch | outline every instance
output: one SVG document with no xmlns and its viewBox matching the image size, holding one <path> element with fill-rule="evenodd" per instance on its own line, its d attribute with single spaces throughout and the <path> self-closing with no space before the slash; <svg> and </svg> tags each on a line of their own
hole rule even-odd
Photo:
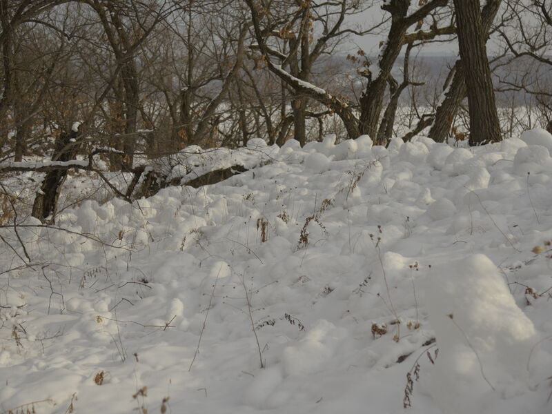
<svg viewBox="0 0 552 414">
<path fill-rule="evenodd" d="M 56 139 L 52 161 L 69 161 L 75 158 L 77 145 L 75 140 L 79 132 L 61 132 Z M 46 221 L 48 217 L 55 215 L 57 200 L 61 191 L 61 185 L 67 177 L 67 169 L 52 170 L 46 172 L 42 181 L 37 197 L 32 204 L 32 217 L 37 217 L 40 221 Z"/>
</svg>

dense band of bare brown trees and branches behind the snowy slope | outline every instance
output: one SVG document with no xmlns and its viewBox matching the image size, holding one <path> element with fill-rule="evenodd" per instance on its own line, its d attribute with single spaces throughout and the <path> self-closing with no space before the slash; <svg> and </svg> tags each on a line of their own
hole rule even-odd
<svg viewBox="0 0 552 414">
<path fill-rule="evenodd" d="M 552 3 L 471 5 L 502 128 L 492 140 L 552 126 Z M 96 149 L 135 171 L 136 157 L 252 137 L 473 138 L 473 50 L 420 55 L 457 50 L 459 21 L 453 0 L 0 0 L 0 162 Z M 354 47 L 366 37 L 379 47 Z M 76 121 L 78 139 L 63 139 Z"/>
</svg>

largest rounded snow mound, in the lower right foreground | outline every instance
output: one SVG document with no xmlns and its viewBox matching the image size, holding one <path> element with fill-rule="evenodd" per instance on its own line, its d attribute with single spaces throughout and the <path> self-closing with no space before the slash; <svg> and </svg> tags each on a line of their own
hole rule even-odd
<svg viewBox="0 0 552 414">
<path fill-rule="evenodd" d="M 426 306 L 439 347 L 431 393 L 443 413 L 501 413 L 488 406 L 493 393 L 529 392 L 527 362 L 538 336 L 489 257 L 436 266 Z"/>
</svg>

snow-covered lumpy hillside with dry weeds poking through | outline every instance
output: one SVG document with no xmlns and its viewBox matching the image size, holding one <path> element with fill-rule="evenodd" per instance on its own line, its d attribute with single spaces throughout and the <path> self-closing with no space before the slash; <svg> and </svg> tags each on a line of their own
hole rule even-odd
<svg viewBox="0 0 552 414">
<path fill-rule="evenodd" d="M 28 219 L 0 412 L 551 413 L 551 151 L 253 140 L 190 159 L 259 165 L 219 184 Z"/>
</svg>

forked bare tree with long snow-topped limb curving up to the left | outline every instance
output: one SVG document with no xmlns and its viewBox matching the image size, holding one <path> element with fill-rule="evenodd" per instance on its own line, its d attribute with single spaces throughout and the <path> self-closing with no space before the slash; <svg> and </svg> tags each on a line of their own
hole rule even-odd
<svg viewBox="0 0 552 414">
<path fill-rule="evenodd" d="M 304 97 L 316 99 L 329 110 L 335 112 L 335 114 L 342 119 L 349 137 L 355 138 L 361 133 L 367 133 L 371 135 L 376 142 L 378 142 L 378 139 L 384 139 L 389 128 L 392 128 L 392 123 L 390 124 L 386 121 L 382 125 L 384 128 L 382 133 L 378 133 L 382 112 L 384 111 L 384 99 L 388 88 L 393 89 L 391 95 L 395 95 L 395 99 L 397 99 L 398 96 L 396 93 L 398 92 L 400 95 L 402 91 L 402 88 L 395 85 L 393 79 L 391 79 L 391 70 L 403 46 L 415 41 L 428 41 L 444 34 L 451 34 L 455 31 L 455 28 L 450 23 L 445 23 L 441 26 L 439 24 L 446 20 L 444 16 L 450 14 L 450 10 L 444 8 L 448 3 L 447 0 L 420 1 L 420 7 L 410 14 L 408 13 L 411 8 L 410 0 L 391 0 L 383 3 L 381 6 L 382 10 L 389 14 L 389 18 L 384 19 L 384 21 L 376 25 L 375 28 L 380 28 L 386 23 L 389 23 L 390 26 L 388 34 L 386 34 L 386 40 L 382 41 L 382 51 L 377 57 L 377 64 L 369 65 L 363 72 L 363 76 L 366 78 L 367 83 L 362 97 L 359 98 L 359 115 L 357 115 L 357 111 L 342 97 L 328 92 L 327 90 L 317 88 L 312 83 L 306 81 L 304 79 L 304 74 L 300 71 L 296 76 L 294 75 L 293 68 L 290 67 L 289 70 L 286 70 L 286 65 L 290 64 L 295 53 L 299 50 L 299 46 L 297 45 L 302 43 L 300 41 L 296 41 L 295 43 L 290 42 L 290 48 L 286 52 L 271 48 L 267 41 L 269 35 L 277 32 L 280 37 L 282 37 L 282 29 L 275 30 L 279 27 L 278 21 L 274 19 L 271 20 L 267 17 L 267 12 L 264 10 L 268 10 L 268 8 L 264 3 L 255 3 L 253 0 L 246 0 L 246 3 L 250 8 L 258 48 L 262 52 L 262 57 L 266 60 L 268 69 L 293 88 L 296 95 L 301 94 Z M 311 1 L 306 3 L 311 8 L 317 5 L 317 3 Z M 323 31 L 324 36 L 319 38 L 318 41 L 314 43 L 315 45 L 322 45 L 322 47 L 324 47 L 333 37 L 347 33 L 365 34 L 375 29 L 371 28 L 369 30 L 364 30 L 364 32 L 341 29 L 344 17 L 346 16 L 346 10 L 348 10 L 346 3 L 348 2 L 339 1 L 335 3 L 336 7 L 340 6 L 342 8 L 342 14 L 333 12 L 331 15 L 338 14 L 340 19 L 335 22 L 334 26 L 327 25 L 328 27 Z M 301 4 L 303 5 L 304 3 Z M 305 15 L 304 7 L 299 7 L 299 10 L 293 15 L 294 17 L 291 21 L 304 22 Z M 424 23 L 424 19 L 427 17 L 431 17 L 431 23 Z M 288 20 L 289 19 L 284 19 L 284 22 Z M 308 22 L 308 19 L 306 19 L 306 21 Z M 264 25 L 262 25 L 262 22 L 264 22 Z M 292 34 L 287 34 L 284 30 L 286 36 L 292 37 L 293 39 L 297 37 L 297 39 L 299 39 L 299 35 L 303 35 L 302 28 L 306 23 L 297 24 L 298 29 L 293 31 Z M 288 26 L 290 26 L 289 23 Z M 284 26 L 284 28 L 287 30 L 288 26 Z M 408 33 L 408 28 L 411 28 L 411 26 L 415 26 L 416 30 Z M 273 59 L 276 59 L 281 64 L 274 63 Z M 305 62 L 308 63 L 309 60 L 306 59 Z M 306 68 L 309 68 L 308 64 Z M 394 103 L 391 104 L 390 112 L 393 112 L 393 105 Z M 299 106 L 298 108 L 301 110 L 302 107 Z M 387 115 L 390 115 L 390 113 Z M 384 143 L 382 142 L 382 144 Z"/>
</svg>

